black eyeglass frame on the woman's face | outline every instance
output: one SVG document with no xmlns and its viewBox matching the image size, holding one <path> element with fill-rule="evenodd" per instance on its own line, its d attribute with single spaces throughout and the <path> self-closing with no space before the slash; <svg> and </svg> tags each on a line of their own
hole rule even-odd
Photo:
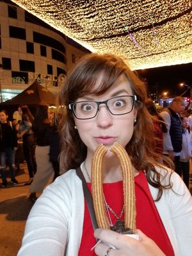
<svg viewBox="0 0 192 256">
<path fill-rule="evenodd" d="M 131 111 L 126 112 L 126 113 L 124 113 L 124 114 L 113 114 L 113 113 L 111 112 L 111 110 L 110 110 L 109 107 L 108 107 L 108 101 L 111 100 L 111 99 L 118 98 L 118 97 L 131 97 L 131 98 L 132 98 L 132 108 L 131 108 L 131 111 L 132 111 L 132 109 L 133 109 L 133 107 L 134 107 L 134 103 L 137 101 L 137 96 L 136 96 L 136 95 L 120 95 L 120 96 L 112 97 L 112 98 L 110 98 L 110 99 L 108 99 L 108 100 L 104 100 L 104 101 L 81 100 L 81 101 L 77 101 L 77 102 L 73 102 L 73 103 L 68 104 L 68 109 L 72 110 L 74 116 L 76 116 L 76 112 L 75 112 L 75 110 L 74 110 L 75 104 L 81 103 L 81 102 L 95 102 L 95 103 L 97 104 L 97 111 L 96 111 L 96 113 L 95 113 L 94 116 L 89 117 L 89 118 L 78 118 L 78 117 L 76 116 L 76 118 L 79 119 L 79 120 L 88 120 L 88 119 L 92 119 L 92 118 L 94 118 L 95 116 L 97 116 L 97 113 L 98 113 L 98 111 L 99 111 L 99 105 L 100 105 L 100 104 L 105 104 L 105 105 L 106 105 L 106 108 L 109 110 L 109 113 L 111 113 L 111 115 L 114 115 L 114 116 L 121 116 L 121 115 L 126 115 L 126 114 L 131 113 Z"/>
</svg>

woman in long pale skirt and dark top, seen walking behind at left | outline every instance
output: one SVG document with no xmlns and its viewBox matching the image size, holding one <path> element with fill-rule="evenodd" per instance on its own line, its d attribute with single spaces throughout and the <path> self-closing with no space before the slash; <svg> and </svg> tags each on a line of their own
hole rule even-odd
<svg viewBox="0 0 192 256">
<path fill-rule="evenodd" d="M 54 174 L 54 169 L 49 159 L 49 131 L 51 129 L 51 122 L 48 118 L 48 106 L 37 107 L 32 129 L 36 138 L 36 174 L 29 188 L 31 193 L 29 199 L 35 202 L 36 193 L 42 193 L 49 179 Z"/>
</svg>

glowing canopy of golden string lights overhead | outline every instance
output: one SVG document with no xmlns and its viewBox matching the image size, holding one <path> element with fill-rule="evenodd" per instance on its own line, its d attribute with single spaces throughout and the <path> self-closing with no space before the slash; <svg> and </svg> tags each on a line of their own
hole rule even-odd
<svg viewBox="0 0 192 256">
<path fill-rule="evenodd" d="M 92 52 L 132 69 L 192 62 L 190 0 L 13 0 Z"/>
</svg>

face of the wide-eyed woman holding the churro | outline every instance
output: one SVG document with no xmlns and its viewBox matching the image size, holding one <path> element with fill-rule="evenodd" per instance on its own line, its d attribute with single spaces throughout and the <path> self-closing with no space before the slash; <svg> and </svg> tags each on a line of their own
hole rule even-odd
<svg viewBox="0 0 192 256">
<path fill-rule="evenodd" d="M 129 80 L 124 75 L 120 76 L 117 83 L 104 94 L 87 95 L 77 99 L 76 102 L 81 100 L 104 101 L 122 95 L 132 95 Z M 136 113 L 136 109 L 133 108 L 131 113 L 112 115 L 106 105 L 101 104 L 94 118 L 87 120 L 74 118 L 79 136 L 88 148 L 88 154 L 92 155 L 100 143 L 108 149 L 115 141 L 125 147 L 132 137 Z"/>
</svg>

